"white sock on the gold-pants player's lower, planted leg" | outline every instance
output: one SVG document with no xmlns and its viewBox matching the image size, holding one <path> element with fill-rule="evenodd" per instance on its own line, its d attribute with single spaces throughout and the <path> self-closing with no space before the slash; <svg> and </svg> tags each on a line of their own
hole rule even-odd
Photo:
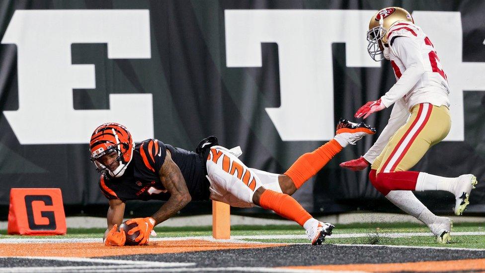
<svg viewBox="0 0 485 273">
<path fill-rule="evenodd" d="M 434 215 L 410 190 L 391 190 L 386 198 L 426 225 L 433 223 L 438 216 Z"/>
</svg>

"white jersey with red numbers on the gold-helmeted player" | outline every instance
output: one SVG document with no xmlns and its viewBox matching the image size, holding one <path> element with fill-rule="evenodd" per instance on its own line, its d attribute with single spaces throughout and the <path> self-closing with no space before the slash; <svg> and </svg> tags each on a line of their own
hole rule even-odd
<svg viewBox="0 0 485 273">
<path fill-rule="evenodd" d="M 433 44 L 420 27 L 401 22 L 388 31 L 389 47 L 386 59 L 397 83 L 381 97 L 386 107 L 404 98 L 408 109 L 428 102 L 436 106 L 450 106 L 447 77 L 441 67 Z"/>
</svg>

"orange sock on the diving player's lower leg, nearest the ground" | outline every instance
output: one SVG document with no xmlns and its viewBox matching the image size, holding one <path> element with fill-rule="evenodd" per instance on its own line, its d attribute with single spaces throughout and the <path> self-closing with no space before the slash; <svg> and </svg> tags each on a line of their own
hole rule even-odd
<svg viewBox="0 0 485 273">
<path fill-rule="evenodd" d="M 302 227 L 308 219 L 313 218 L 293 197 L 270 189 L 264 190 L 259 197 L 259 206 L 271 209 L 281 217 L 299 223 Z"/>
</svg>

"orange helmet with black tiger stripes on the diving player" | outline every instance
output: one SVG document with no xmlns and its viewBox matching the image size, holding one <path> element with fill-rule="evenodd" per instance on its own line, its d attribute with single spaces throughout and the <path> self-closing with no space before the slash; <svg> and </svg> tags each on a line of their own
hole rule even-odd
<svg viewBox="0 0 485 273">
<path fill-rule="evenodd" d="M 114 122 L 104 123 L 94 129 L 89 145 L 91 162 L 96 166 L 96 171 L 107 179 L 123 175 L 126 166 L 133 158 L 133 150 L 135 149 L 135 142 L 130 132 L 125 126 Z M 118 154 L 112 164 L 119 162 L 119 166 L 114 171 L 111 171 L 109 166 L 104 166 L 99 161 L 102 156 L 112 152 Z"/>
</svg>

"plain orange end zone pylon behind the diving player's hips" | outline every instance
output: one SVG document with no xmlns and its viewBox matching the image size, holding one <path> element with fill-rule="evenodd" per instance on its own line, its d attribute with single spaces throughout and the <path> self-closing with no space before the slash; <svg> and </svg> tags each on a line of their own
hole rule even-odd
<svg viewBox="0 0 485 273">
<path fill-rule="evenodd" d="M 212 237 L 231 238 L 231 210 L 229 204 L 212 200 Z"/>
</svg>

